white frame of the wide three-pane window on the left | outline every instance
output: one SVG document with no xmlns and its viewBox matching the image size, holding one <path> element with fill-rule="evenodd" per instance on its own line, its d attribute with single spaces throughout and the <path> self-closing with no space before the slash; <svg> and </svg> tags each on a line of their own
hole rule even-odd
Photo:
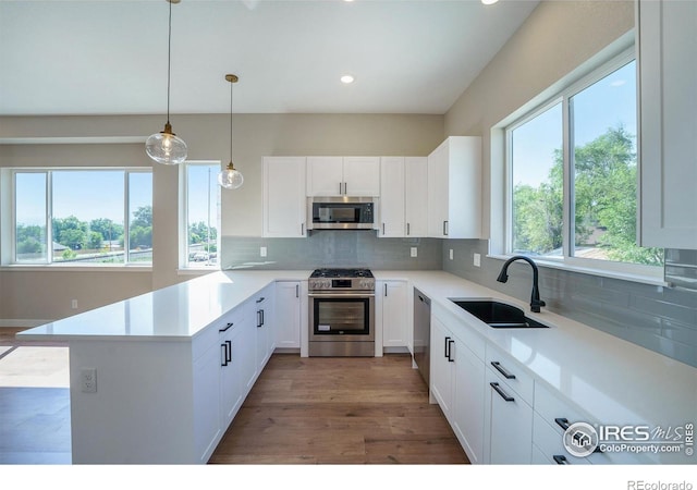
<svg viewBox="0 0 697 490">
<path fill-rule="evenodd" d="M 130 261 L 130 225 L 131 225 L 131 216 L 130 216 L 130 204 L 131 204 L 131 188 L 130 188 L 130 174 L 132 173 L 149 173 L 152 174 L 152 169 L 149 167 L 33 167 L 33 168 L 11 168 L 9 170 L 9 185 L 10 185 L 10 220 L 9 220 L 9 254 L 3 254 L 2 266 L 3 267 L 12 267 L 14 268 L 57 268 L 61 270 L 65 270 L 68 268 L 75 268 L 78 270 L 85 269 L 151 269 L 152 260 L 149 262 L 144 261 Z M 54 261 L 53 255 L 53 189 L 52 189 L 52 177 L 54 172 L 71 172 L 71 171 L 82 171 L 82 172 L 123 172 L 123 233 L 124 233 L 124 259 L 123 262 L 120 264 L 101 264 L 101 262 L 73 262 L 73 261 Z M 20 173 L 36 173 L 46 175 L 46 199 L 44 203 L 45 209 L 45 226 L 46 226 L 46 259 L 42 261 L 35 262 L 23 262 L 17 261 L 17 250 L 16 250 L 16 219 L 17 219 L 17 210 L 16 210 L 16 175 Z M 152 206 L 152 195 L 150 197 L 150 206 Z M 5 228 L 7 230 L 7 228 Z"/>
</svg>

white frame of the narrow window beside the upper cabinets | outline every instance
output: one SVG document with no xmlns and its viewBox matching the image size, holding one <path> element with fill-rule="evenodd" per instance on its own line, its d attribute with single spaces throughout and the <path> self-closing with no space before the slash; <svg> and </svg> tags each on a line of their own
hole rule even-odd
<svg viewBox="0 0 697 490">
<path fill-rule="evenodd" d="M 179 271 L 180 272 L 212 272 L 220 270 L 220 244 L 221 244 L 221 226 L 222 226 L 222 193 L 220 191 L 220 186 L 218 185 L 218 220 L 217 220 L 217 234 L 216 234 L 216 249 L 218 254 L 218 260 L 215 265 L 196 265 L 193 266 L 194 262 L 189 262 L 188 260 L 188 168 L 189 167 L 216 167 L 218 172 L 221 170 L 221 161 L 220 160 L 186 160 L 184 163 L 180 166 L 180 222 L 179 222 Z"/>
</svg>

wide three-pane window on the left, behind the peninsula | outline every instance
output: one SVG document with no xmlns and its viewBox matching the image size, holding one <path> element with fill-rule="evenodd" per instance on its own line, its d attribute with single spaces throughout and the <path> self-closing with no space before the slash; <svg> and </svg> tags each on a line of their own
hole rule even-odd
<svg viewBox="0 0 697 490">
<path fill-rule="evenodd" d="M 152 262 L 152 173 L 15 170 L 14 264 Z"/>
</svg>

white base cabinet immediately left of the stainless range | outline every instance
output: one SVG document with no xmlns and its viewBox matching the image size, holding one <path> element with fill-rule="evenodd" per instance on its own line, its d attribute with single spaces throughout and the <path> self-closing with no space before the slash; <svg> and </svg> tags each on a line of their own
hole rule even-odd
<svg viewBox="0 0 697 490">
<path fill-rule="evenodd" d="M 276 283 L 276 347 L 299 348 L 301 326 L 303 321 L 302 305 L 304 293 L 301 281 L 278 281 Z"/>
</svg>

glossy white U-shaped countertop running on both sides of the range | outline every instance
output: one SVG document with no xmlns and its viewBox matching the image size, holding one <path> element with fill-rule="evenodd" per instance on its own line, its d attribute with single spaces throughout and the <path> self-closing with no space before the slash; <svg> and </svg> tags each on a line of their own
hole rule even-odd
<svg viewBox="0 0 697 490">
<path fill-rule="evenodd" d="M 443 271 L 372 271 L 407 280 L 438 307 L 517 359 L 602 424 L 697 421 L 697 368 Z M 277 280 L 311 271 L 213 272 L 19 333 L 36 340 L 191 340 L 220 316 Z M 523 308 L 549 329 L 492 329 L 448 298 L 494 297 Z M 463 328 L 466 328 L 463 326 Z M 660 418 L 657 418 L 660 417 Z"/>
</svg>

